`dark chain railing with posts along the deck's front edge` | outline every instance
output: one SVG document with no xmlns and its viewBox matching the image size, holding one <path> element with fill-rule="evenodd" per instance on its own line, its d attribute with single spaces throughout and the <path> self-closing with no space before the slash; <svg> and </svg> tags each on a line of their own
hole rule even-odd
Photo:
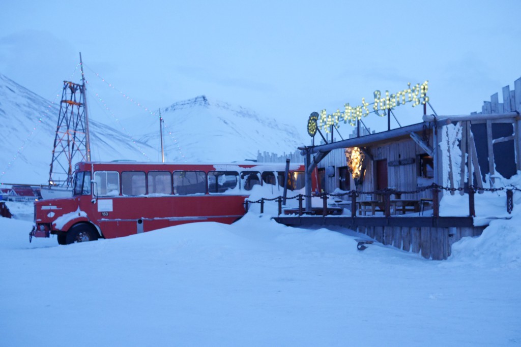
<svg viewBox="0 0 521 347">
<path fill-rule="evenodd" d="M 432 183 L 431 185 L 428 185 L 428 186 L 425 186 L 425 187 L 421 187 L 421 188 L 418 188 L 416 190 L 396 190 L 396 189 L 393 189 L 393 188 L 385 188 L 385 189 L 380 189 L 380 190 L 373 190 L 373 191 L 362 191 L 362 190 L 349 190 L 349 191 L 345 191 L 345 192 L 342 192 L 342 193 L 330 193 L 330 194 L 327 194 L 326 192 L 324 193 L 321 193 L 321 194 L 312 194 L 312 195 L 304 195 L 304 194 L 298 194 L 298 195 L 295 195 L 295 196 L 292 196 L 292 197 L 287 197 L 286 200 L 292 200 L 292 199 L 297 199 L 299 200 L 299 209 L 298 209 L 298 213 L 299 213 L 299 216 L 300 215 L 303 215 L 304 213 L 307 213 L 306 211 L 304 211 L 303 209 L 303 200 L 304 198 L 313 198 L 313 197 L 320 197 L 323 201 L 323 204 L 322 204 L 322 215 L 323 216 L 326 216 L 330 213 L 328 207 L 327 207 L 327 200 L 328 198 L 341 198 L 341 197 L 344 197 L 344 196 L 349 196 L 351 198 L 351 206 L 353 208 L 351 208 L 351 216 L 352 217 L 356 217 L 356 209 L 354 208 L 356 206 L 356 203 L 357 203 L 357 197 L 360 196 L 360 195 L 380 195 L 383 197 L 383 205 L 384 205 L 384 215 L 386 217 L 389 217 L 391 215 L 391 212 L 390 212 L 390 206 L 391 206 L 391 200 L 390 200 L 390 197 L 391 195 L 402 195 L 402 194 L 418 194 L 420 192 L 424 192 L 426 190 L 432 190 L 432 209 L 433 209 L 433 217 L 439 217 L 439 199 L 438 199 L 438 193 L 441 191 L 441 190 L 445 190 L 445 191 L 450 191 L 450 192 L 456 192 L 456 191 L 464 191 L 466 194 L 468 194 L 468 200 L 469 200 L 469 216 L 471 217 L 475 217 L 476 216 L 476 210 L 475 210 L 475 199 L 474 199 L 474 195 L 476 194 L 476 192 L 483 192 L 483 191 L 491 191 L 491 192 L 495 192 L 495 191 L 503 191 L 503 190 L 506 190 L 506 210 L 508 213 L 512 213 L 512 210 L 513 210 L 513 207 L 514 207 L 514 201 L 513 201 L 513 197 L 514 197 L 514 190 L 516 191 L 521 191 L 521 188 L 517 187 L 517 186 L 514 186 L 514 185 L 508 185 L 508 186 L 505 186 L 505 187 L 500 187 L 500 188 L 482 188 L 482 187 L 475 187 L 473 185 L 470 185 L 468 186 L 467 188 L 462 188 L 462 187 L 458 187 L 458 188 L 452 188 L 452 187 L 443 187 L 439 184 L 436 184 L 436 183 Z M 245 210 L 246 212 L 248 211 L 248 208 L 249 208 L 249 204 L 252 204 L 252 203 L 260 203 L 261 204 L 261 213 L 264 213 L 264 203 L 266 201 L 277 201 L 278 202 L 278 215 L 281 215 L 282 214 L 282 200 L 283 200 L 283 197 L 282 196 L 278 196 L 276 198 L 261 198 L 261 199 L 258 199 L 258 200 L 255 200 L 255 201 L 252 201 L 252 200 L 249 200 L 249 199 L 246 199 L 244 201 L 244 206 L 245 206 Z M 358 201 L 360 202 L 360 201 Z"/>
</svg>

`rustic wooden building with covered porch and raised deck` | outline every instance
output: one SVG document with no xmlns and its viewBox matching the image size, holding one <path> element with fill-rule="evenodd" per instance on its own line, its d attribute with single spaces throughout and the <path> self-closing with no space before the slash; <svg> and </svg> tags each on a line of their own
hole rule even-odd
<svg viewBox="0 0 521 347">
<path fill-rule="evenodd" d="M 502 103 L 494 94 L 479 113 L 439 116 L 426 110 L 427 105 L 421 123 L 391 129 L 389 120 L 387 131 L 364 134 L 358 120 L 360 136 L 301 147 L 305 212 L 277 220 L 287 225 L 342 225 L 430 259 L 446 259 L 453 242 L 480 235 L 486 225 L 474 223 L 474 192 L 494 189 L 498 177 L 521 171 L 521 79 L 514 91 L 503 88 Z M 350 167 L 353 151 L 362 153 L 355 163 L 359 176 Z M 315 168 L 321 192 L 336 196 L 351 216 L 313 215 Z M 440 216 L 443 194 L 468 195 L 468 216 Z M 425 210 L 431 211 L 423 214 Z"/>
</svg>

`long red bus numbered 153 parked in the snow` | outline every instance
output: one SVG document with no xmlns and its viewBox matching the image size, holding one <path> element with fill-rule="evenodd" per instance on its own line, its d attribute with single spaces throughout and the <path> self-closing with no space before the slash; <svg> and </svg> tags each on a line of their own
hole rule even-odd
<svg viewBox="0 0 521 347">
<path fill-rule="evenodd" d="M 255 185 L 282 189 L 285 164 L 81 162 L 72 197 L 34 202 L 30 238 L 60 245 L 115 238 L 168 226 L 240 219 Z M 288 189 L 304 187 L 304 166 L 290 164 Z"/>
</svg>

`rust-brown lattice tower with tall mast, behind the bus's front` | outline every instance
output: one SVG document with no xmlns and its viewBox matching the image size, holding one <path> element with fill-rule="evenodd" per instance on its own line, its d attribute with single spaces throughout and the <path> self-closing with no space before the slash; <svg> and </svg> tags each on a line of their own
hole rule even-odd
<svg viewBox="0 0 521 347">
<path fill-rule="evenodd" d="M 85 80 L 82 84 L 64 81 L 60 112 L 54 137 L 49 186 L 70 188 L 74 169 L 80 161 L 90 161 L 89 119 L 85 104 Z"/>
</svg>

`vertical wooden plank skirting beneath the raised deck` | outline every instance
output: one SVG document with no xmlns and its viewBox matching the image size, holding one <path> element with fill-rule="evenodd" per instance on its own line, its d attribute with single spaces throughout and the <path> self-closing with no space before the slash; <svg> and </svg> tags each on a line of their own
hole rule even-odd
<svg viewBox="0 0 521 347">
<path fill-rule="evenodd" d="M 426 259 L 444 260 L 451 255 L 454 242 L 463 237 L 479 236 L 484 228 L 484 226 L 451 228 L 363 226 L 358 227 L 356 231 L 383 245 L 419 253 Z"/>
</svg>

